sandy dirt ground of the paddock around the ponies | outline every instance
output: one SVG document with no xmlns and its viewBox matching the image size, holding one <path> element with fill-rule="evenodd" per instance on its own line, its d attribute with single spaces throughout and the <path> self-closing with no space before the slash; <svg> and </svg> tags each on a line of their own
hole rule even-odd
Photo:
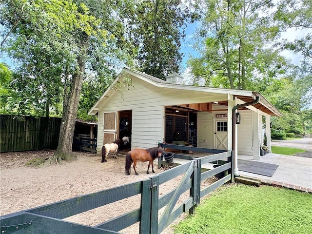
<svg viewBox="0 0 312 234">
<path fill-rule="evenodd" d="M 146 179 L 154 174 L 147 175 L 148 162 L 138 162 L 138 176 L 125 175 L 125 157 L 117 156 L 117 159 L 108 156 L 108 162 L 101 163 L 101 156 L 91 153 L 75 152 L 77 160 L 48 166 L 25 166 L 32 158 L 47 158 L 54 154 L 54 150 L 28 151 L 1 153 L 0 155 L 0 215 L 6 215 L 21 210 L 46 205 L 52 202 L 72 198 L 79 195 L 95 193 L 101 190 L 116 187 L 118 185 L 132 183 Z M 154 170 L 160 173 L 168 168 L 157 168 L 154 162 Z M 151 168 L 150 168 L 151 172 Z M 178 176 L 159 188 L 159 196 L 171 191 L 178 185 L 182 176 Z M 213 177 L 204 181 L 210 184 L 216 179 Z M 181 195 L 179 201 L 184 200 L 188 192 Z M 79 215 L 66 218 L 70 222 L 94 226 L 105 222 L 118 215 L 139 208 L 140 196 L 132 196 Z M 161 215 L 161 210 L 159 211 Z M 184 215 L 180 215 L 172 224 L 175 225 Z M 162 234 L 172 234 L 170 225 Z M 121 233 L 137 234 L 139 225 L 121 230 Z"/>
</svg>

